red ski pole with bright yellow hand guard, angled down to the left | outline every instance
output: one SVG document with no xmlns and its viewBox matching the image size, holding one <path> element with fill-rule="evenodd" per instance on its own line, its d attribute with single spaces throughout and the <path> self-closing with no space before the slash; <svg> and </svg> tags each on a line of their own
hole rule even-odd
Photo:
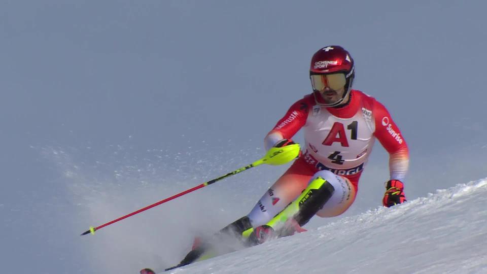
<svg viewBox="0 0 487 274">
<path fill-rule="evenodd" d="M 232 171 L 230 173 L 227 173 L 227 174 L 225 174 L 225 175 L 223 175 L 221 177 L 218 177 L 218 178 L 213 179 L 211 181 L 202 183 L 202 184 L 197 185 L 197 186 L 195 186 L 193 188 L 190 188 L 188 190 L 185 190 L 183 192 L 180 192 L 180 193 L 178 193 L 176 195 L 173 195 L 173 196 L 170 196 L 170 197 L 165 198 L 163 200 L 160 200 L 160 201 L 158 201 L 156 203 L 153 203 L 151 205 L 148 205 L 145 208 L 142 208 L 140 210 L 137 210 L 137 211 L 134 211 L 132 213 L 129 213 L 129 214 L 125 215 L 125 216 L 122 216 L 122 217 L 120 217 L 118 219 L 115 219 L 113 221 L 110 221 L 108 223 L 102 224 L 102 225 L 97 226 L 97 227 L 90 226 L 90 229 L 88 229 L 87 231 L 83 232 L 81 235 L 86 235 L 86 234 L 89 234 L 89 233 L 95 234 L 95 231 L 98 230 L 98 229 L 100 229 L 100 228 L 102 228 L 102 227 L 106 227 L 108 225 L 111 225 L 113 223 L 116 223 L 118 221 L 121 221 L 121 220 L 123 220 L 125 218 L 128 218 L 128 217 L 133 216 L 133 215 L 138 214 L 138 213 L 141 213 L 141 212 L 146 211 L 148 209 L 151 209 L 153 207 L 156 207 L 159 204 L 165 203 L 165 202 L 170 201 L 172 199 L 176 199 L 176 198 L 178 198 L 180 196 L 183 196 L 185 194 L 188 194 L 190 192 L 193 192 L 193 191 L 195 191 L 197 189 L 200 189 L 202 187 L 205 187 L 207 185 L 211 185 L 211 184 L 213 184 L 215 182 L 218 182 L 220 180 L 223 180 L 225 178 L 228 178 L 228 177 L 230 177 L 232 175 L 235 175 L 237 173 L 241 173 L 241 172 L 243 172 L 243 171 L 245 171 L 245 170 L 247 170 L 249 168 L 252 168 L 252 167 L 255 167 L 255 166 L 264 164 L 264 163 L 265 164 L 270 164 L 270 165 L 285 164 L 285 163 L 290 162 L 293 159 L 295 159 L 298 155 L 299 155 L 299 144 L 293 144 L 293 145 L 289 145 L 289 146 L 285 146 L 285 147 L 281 147 L 281 148 L 271 148 L 271 149 L 269 149 L 269 151 L 267 151 L 267 153 L 266 153 L 266 155 L 264 157 L 262 157 L 261 159 L 255 161 L 255 162 L 253 162 L 253 163 L 251 163 L 251 164 L 249 164 L 247 166 L 238 168 L 237 170 L 234 170 L 234 171 Z"/>
</svg>

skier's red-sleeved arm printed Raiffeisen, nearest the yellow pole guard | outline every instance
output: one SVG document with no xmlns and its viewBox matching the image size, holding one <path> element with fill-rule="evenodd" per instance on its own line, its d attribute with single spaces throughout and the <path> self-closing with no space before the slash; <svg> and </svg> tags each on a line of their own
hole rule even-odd
<svg viewBox="0 0 487 274">
<path fill-rule="evenodd" d="M 308 106 L 306 97 L 295 102 L 289 108 L 286 115 L 276 123 L 274 128 L 267 133 L 264 138 L 264 147 L 266 150 L 273 147 L 277 142 L 283 139 L 291 139 L 296 132 L 306 123 L 308 117 Z"/>
</svg>

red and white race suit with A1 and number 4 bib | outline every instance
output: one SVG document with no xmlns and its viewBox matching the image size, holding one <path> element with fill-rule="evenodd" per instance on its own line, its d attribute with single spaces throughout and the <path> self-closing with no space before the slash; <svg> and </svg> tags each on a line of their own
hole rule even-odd
<svg viewBox="0 0 487 274">
<path fill-rule="evenodd" d="M 318 95 L 319 96 L 319 95 Z M 330 108 L 317 104 L 314 94 L 295 102 L 264 139 L 269 149 L 282 139 L 291 139 L 304 131 L 302 155 L 276 181 L 248 215 L 253 224 L 265 224 L 279 213 L 320 170 L 329 170 L 335 178 L 337 197 L 327 202 L 317 215 L 336 216 L 350 207 L 358 182 L 375 139 L 389 152 L 390 179 L 404 181 L 408 169 L 408 148 L 387 109 L 375 98 L 352 90 L 344 107 Z M 342 191 L 342 190 L 343 191 Z"/>
</svg>

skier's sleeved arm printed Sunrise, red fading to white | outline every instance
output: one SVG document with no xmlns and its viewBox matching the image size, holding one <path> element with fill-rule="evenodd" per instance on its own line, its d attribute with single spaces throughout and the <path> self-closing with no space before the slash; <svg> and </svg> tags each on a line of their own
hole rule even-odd
<svg viewBox="0 0 487 274">
<path fill-rule="evenodd" d="M 390 180 L 404 182 L 409 167 L 409 150 L 391 115 L 379 102 L 374 102 L 374 120 L 377 140 L 389 152 Z"/>
</svg>

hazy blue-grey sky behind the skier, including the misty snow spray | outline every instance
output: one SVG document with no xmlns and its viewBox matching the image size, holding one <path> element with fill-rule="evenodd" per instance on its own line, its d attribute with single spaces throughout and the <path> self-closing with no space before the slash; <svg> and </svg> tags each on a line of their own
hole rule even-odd
<svg viewBox="0 0 487 274">
<path fill-rule="evenodd" d="M 487 177 L 486 6 L 0 2 L 0 264 L 87 273 L 179 260 L 195 234 L 250 212 L 289 165 L 79 234 L 262 157 L 265 134 L 311 92 L 310 58 L 327 45 L 351 52 L 354 88 L 400 127 L 408 199 Z M 388 176 L 377 142 L 354 205 L 309 227 L 380 206 Z"/>
</svg>

